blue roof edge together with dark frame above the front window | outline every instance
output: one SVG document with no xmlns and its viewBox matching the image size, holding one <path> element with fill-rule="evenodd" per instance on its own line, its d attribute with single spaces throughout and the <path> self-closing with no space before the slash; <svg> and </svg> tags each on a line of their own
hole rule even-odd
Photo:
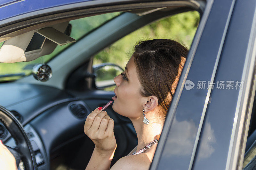
<svg viewBox="0 0 256 170">
<path fill-rule="evenodd" d="M 141 1 L 141 0 L 72 0 L 72 1 L 59 1 L 59 0 L 44 0 L 44 4 L 38 4 L 38 1 L 33 0 L 21 0 L 16 3 L 11 3 L 9 5 L 0 6 L 0 28 L 3 26 L 7 26 L 9 24 L 13 24 L 16 22 L 28 20 L 36 17 L 44 17 L 50 14 L 60 14 L 61 12 L 70 12 L 83 8 L 93 8 L 93 7 L 102 7 L 102 6 L 113 6 L 113 5 L 121 5 L 121 4 L 130 4 L 130 3 L 166 3 L 164 1 Z M 170 2 L 170 1 L 169 1 Z M 182 2 L 182 1 L 181 1 Z M 24 5 L 24 3 L 26 5 Z M 143 4 L 142 3 L 142 4 Z M 32 5 L 30 5 L 32 4 Z M 190 7 L 196 7 L 193 2 L 183 1 L 183 4 L 188 4 Z M 133 9 L 136 9 L 136 6 L 133 6 Z M 138 6 L 139 7 L 139 6 Z M 8 12 L 12 9 L 17 9 L 13 12 Z M 98 10 L 97 10 L 98 11 Z M 97 12 L 94 11 L 94 12 Z M 113 10 L 112 10 L 113 11 Z"/>
</svg>

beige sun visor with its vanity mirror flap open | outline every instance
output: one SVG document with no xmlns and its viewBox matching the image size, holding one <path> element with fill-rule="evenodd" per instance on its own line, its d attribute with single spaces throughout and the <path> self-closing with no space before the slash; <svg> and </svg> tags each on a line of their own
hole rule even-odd
<svg viewBox="0 0 256 170">
<path fill-rule="evenodd" d="M 28 62 L 51 54 L 57 44 L 65 45 L 76 40 L 69 37 L 68 22 L 20 34 L 4 41 L 0 48 L 0 63 Z M 65 33 L 66 34 L 65 34 Z"/>
</svg>

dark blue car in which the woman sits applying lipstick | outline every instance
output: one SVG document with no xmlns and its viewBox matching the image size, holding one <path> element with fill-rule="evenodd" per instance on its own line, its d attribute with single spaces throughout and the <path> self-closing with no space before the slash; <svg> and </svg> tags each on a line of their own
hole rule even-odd
<svg viewBox="0 0 256 170">
<path fill-rule="evenodd" d="M 111 76 L 123 69 L 117 56 L 97 63 L 99 54 L 161 18 L 197 11 L 150 170 L 253 169 L 255 9 L 252 0 L 0 2 L 0 62 L 8 63 L 0 71 L 9 71 L 0 75 L 0 139 L 20 168 L 84 169 L 94 148 L 85 117 L 111 100 Z M 89 26 L 73 34 L 82 22 Z M 106 110 L 115 121 L 112 166 L 138 141 L 128 118 Z"/>
</svg>

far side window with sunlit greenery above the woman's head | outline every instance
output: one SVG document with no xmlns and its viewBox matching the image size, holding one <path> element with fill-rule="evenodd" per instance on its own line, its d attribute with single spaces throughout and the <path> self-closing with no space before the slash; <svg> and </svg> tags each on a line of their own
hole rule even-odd
<svg viewBox="0 0 256 170">
<path fill-rule="evenodd" d="M 100 51 L 94 56 L 93 64 L 110 62 L 124 68 L 132 55 L 133 46 L 136 42 L 145 39 L 172 39 L 190 48 L 199 20 L 200 14 L 197 11 L 183 12 L 158 20 L 126 35 Z M 113 91 L 114 88 L 115 85 L 104 90 Z"/>
</svg>

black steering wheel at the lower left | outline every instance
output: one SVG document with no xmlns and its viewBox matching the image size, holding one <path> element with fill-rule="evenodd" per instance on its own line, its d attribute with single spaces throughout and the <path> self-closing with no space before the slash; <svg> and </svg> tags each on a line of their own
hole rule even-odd
<svg viewBox="0 0 256 170">
<path fill-rule="evenodd" d="M 0 121 L 10 132 L 17 144 L 14 149 L 7 147 L 16 159 L 17 167 L 21 159 L 26 170 L 37 170 L 36 158 L 32 145 L 23 126 L 17 118 L 6 108 L 0 106 Z"/>
</svg>

